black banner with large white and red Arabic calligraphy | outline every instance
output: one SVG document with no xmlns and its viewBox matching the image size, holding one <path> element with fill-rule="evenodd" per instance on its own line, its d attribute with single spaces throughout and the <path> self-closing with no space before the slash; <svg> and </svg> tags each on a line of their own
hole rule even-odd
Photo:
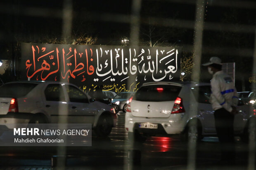
<svg viewBox="0 0 256 170">
<path fill-rule="evenodd" d="M 21 79 L 66 81 L 88 92 L 136 91 L 145 82 L 180 77 L 181 47 L 21 44 Z"/>
</svg>

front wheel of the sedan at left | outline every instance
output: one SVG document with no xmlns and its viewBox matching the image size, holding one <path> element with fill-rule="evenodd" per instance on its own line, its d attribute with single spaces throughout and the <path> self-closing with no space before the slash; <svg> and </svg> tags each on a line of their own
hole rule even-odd
<svg viewBox="0 0 256 170">
<path fill-rule="evenodd" d="M 106 137 L 109 135 L 113 127 L 113 120 L 110 115 L 102 115 L 100 116 L 97 126 L 96 126 L 96 134 L 99 137 Z"/>
</svg>

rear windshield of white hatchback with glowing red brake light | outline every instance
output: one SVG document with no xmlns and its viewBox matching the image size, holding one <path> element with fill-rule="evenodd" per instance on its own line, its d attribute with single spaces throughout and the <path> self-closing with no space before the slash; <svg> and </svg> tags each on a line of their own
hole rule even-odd
<svg viewBox="0 0 256 170">
<path fill-rule="evenodd" d="M 173 85 L 151 85 L 142 86 L 134 95 L 135 100 L 162 102 L 174 101 L 180 93 L 180 86 Z"/>
</svg>

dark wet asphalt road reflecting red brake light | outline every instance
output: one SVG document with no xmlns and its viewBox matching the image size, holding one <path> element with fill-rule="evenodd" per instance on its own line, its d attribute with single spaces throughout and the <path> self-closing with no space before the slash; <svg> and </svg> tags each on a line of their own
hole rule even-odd
<svg viewBox="0 0 256 170">
<path fill-rule="evenodd" d="M 239 138 L 236 140 L 236 164 L 217 165 L 220 158 L 218 138 L 204 137 L 197 143 L 195 154 L 189 151 L 188 144 L 181 142 L 178 136 L 150 137 L 143 144 L 134 144 L 128 140 L 124 118 L 125 113 L 119 112 L 117 126 L 109 137 L 92 137 L 92 147 L 0 147 L 0 170 L 248 169 L 247 144 Z M 55 159 L 57 161 L 54 161 L 57 167 L 51 167 L 52 156 L 58 156 Z"/>
</svg>

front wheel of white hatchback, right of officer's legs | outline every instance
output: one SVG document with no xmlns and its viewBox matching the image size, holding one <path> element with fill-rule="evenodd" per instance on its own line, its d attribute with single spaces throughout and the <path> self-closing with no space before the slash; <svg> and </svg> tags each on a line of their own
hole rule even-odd
<svg viewBox="0 0 256 170">
<path fill-rule="evenodd" d="M 251 118 L 244 128 L 244 133 L 240 136 L 242 142 L 248 143 L 250 139 L 255 139 L 256 133 L 256 119 Z"/>
</svg>

